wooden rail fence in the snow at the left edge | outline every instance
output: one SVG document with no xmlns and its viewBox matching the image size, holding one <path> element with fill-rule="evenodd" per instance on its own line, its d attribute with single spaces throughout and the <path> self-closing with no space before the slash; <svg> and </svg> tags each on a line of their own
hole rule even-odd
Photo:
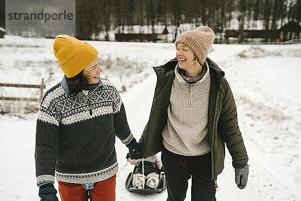
<svg viewBox="0 0 301 201">
<path fill-rule="evenodd" d="M 22 87 L 22 88 L 40 88 L 40 98 L 26 98 L 26 97 L 3 97 L 0 96 L 0 100 L 25 100 L 25 101 L 33 101 L 33 102 L 41 102 L 43 98 L 43 89 L 46 87 L 44 85 L 44 79 L 42 79 L 41 85 L 34 84 L 8 84 L 8 83 L 0 83 L 0 86 L 8 86 L 8 87 Z"/>
</svg>

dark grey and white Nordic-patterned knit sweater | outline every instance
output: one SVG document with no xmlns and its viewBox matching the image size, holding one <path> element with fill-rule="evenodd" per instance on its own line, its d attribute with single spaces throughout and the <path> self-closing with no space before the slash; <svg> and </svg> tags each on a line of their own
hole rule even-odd
<svg viewBox="0 0 301 201">
<path fill-rule="evenodd" d="M 99 79 L 88 94 L 68 94 L 66 77 L 44 95 L 37 120 L 37 185 L 93 183 L 116 174 L 115 135 L 132 139 L 116 88 Z"/>
</svg>

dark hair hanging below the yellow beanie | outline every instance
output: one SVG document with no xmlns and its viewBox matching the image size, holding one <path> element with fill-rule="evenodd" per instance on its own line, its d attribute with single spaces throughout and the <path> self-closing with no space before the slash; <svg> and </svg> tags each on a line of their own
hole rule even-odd
<svg viewBox="0 0 301 201">
<path fill-rule="evenodd" d="M 76 94 L 81 90 L 88 90 L 89 79 L 83 75 L 83 71 L 80 71 L 76 76 L 66 79 L 69 93 Z"/>
</svg>

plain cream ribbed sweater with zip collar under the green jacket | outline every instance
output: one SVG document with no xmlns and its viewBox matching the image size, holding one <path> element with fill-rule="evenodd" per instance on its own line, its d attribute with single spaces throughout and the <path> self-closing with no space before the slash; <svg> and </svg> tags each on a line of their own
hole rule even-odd
<svg viewBox="0 0 301 201">
<path fill-rule="evenodd" d="M 208 139 L 208 104 L 210 75 L 208 64 L 204 77 L 194 84 L 189 84 L 175 69 L 168 121 L 162 136 L 164 146 L 171 152 L 197 156 L 210 152 Z"/>
</svg>

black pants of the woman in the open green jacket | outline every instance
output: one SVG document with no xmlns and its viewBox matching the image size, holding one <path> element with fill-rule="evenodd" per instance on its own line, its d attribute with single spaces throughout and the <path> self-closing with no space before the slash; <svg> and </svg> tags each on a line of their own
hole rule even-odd
<svg viewBox="0 0 301 201">
<path fill-rule="evenodd" d="M 211 153 L 201 156 L 182 156 L 162 150 L 162 163 L 167 179 L 168 201 L 186 197 L 188 179 L 192 176 L 191 200 L 214 201 L 215 183 L 211 180 Z"/>
</svg>

